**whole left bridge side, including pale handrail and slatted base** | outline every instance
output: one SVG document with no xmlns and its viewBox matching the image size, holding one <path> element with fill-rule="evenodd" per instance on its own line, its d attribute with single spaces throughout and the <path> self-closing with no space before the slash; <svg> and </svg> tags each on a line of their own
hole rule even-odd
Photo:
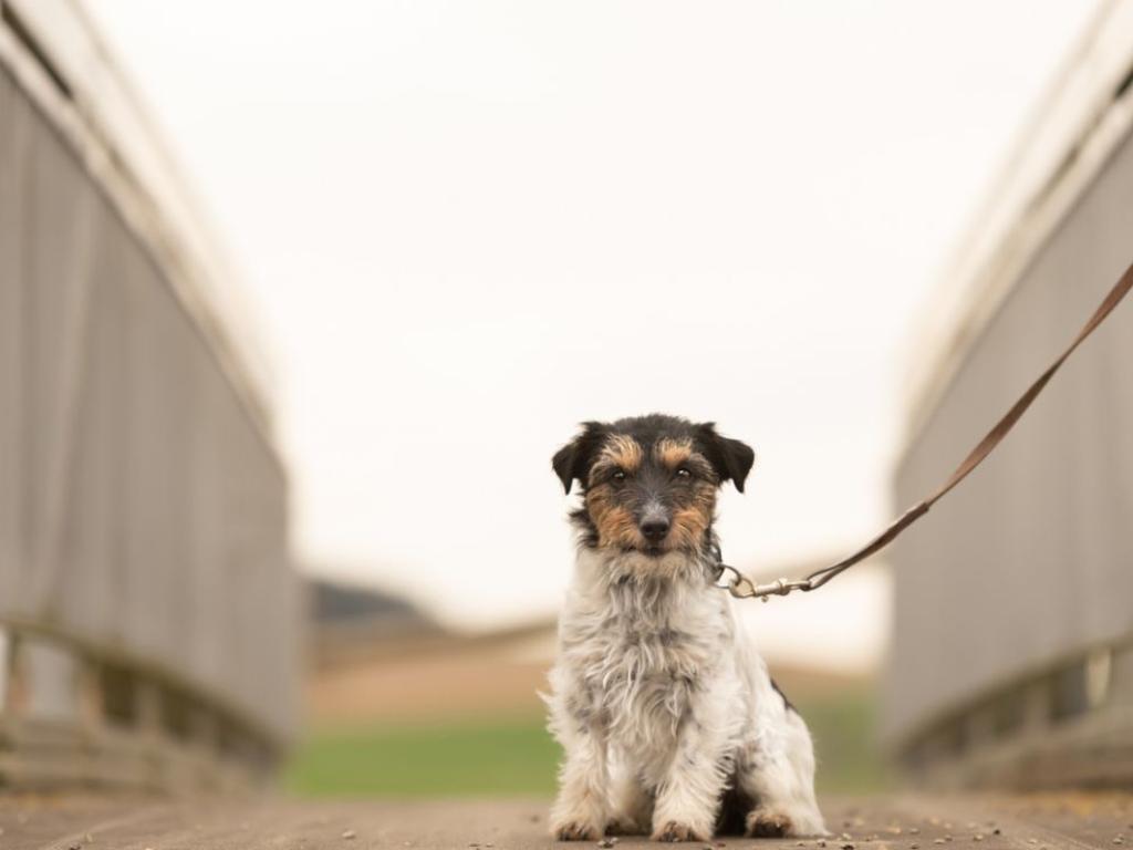
<svg viewBox="0 0 1133 850">
<path fill-rule="evenodd" d="M 263 371 L 79 7 L 0 9 L 0 781 L 242 784 L 298 677 Z"/>
</svg>

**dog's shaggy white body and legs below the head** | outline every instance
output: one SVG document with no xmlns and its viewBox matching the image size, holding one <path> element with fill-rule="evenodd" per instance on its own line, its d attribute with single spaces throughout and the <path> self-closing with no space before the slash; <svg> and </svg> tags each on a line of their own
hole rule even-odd
<svg viewBox="0 0 1133 850">
<path fill-rule="evenodd" d="M 824 834 L 802 719 L 701 560 L 581 547 L 547 697 L 563 746 L 559 838 L 707 840 L 730 783 L 749 832 Z"/>
</svg>

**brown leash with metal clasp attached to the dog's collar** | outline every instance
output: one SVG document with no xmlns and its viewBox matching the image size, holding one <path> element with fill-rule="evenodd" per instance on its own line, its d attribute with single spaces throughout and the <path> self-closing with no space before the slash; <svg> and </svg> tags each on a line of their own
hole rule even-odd
<svg viewBox="0 0 1133 850">
<path fill-rule="evenodd" d="M 857 552 L 846 555 L 837 563 L 824 567 L 820 570 L 815 570 L 806 578 L 778 578 L 764 585 L 757 585 L 750 578 L 735 569 L 735 567 L 730 567 L 724 563 L 719 547 L 714 546 L 713 555 L 716 559 L 716 586 L 726 589 L 738 600 L 761 598 L 764 602 L 767 602 L 767 600 L 772 596 L 786 596 L 789 593 L 794 590 L 809 593 L 811 590 L 817 590 L 835 576 L 845 572 L 855 563 L 864 561 L 870 555 L 876 554 L 888 546 L 902 532 L 909 528 L 909 526 L 928 513 L 929 508 L 936 504 L 953 487 L 966 478 L 972 470 L 976 469 L 976 467 L 983 462 L 988 454 L 995 451 L 996 447 L 1003 442 L 1003 439 L 1011 433 L 1015 423 L 1022 418 L 1024 413 L 1026 413 L 1026 408 L 1031 406 L 1031 402 L 1033 402 L 1034 399 L 1039 397 L 1039 393 L 1046 389 L 1046 385 L 1050 382 L 1050 379 L 1055 376 L 1055 373 L 1062 368 L 1062 365 L 1072 354 L 1074 354 L 1074 350 L 1085 341 L 1087 337 L 1097 330 L 1098 325 L 1106 320 L 1106 316 L 1114 312 L 1114 308 L 1121 303 L 1122 298 L 1126 296 L 1130 289 L 1133 289 L 1133 265 L 1125 270 L 1125 274 L 1123 274 L 1117 280 L 1117 283 L 1114 284 L 1114 288 L 1109 290 L 1109 295 L 1106 296 L 1098 309 L 1094 311 L 1090 321 L 1082 326 L 1082 330 L 1079 331 L 1077 335 L 1074 338 L 1073 342 L 1070 343 L 1066 350 L 1063 351 L 1062 355 L 1054 363 L 1051 363 L 1049 367 L 1047 367 L 1047 371 L 1039 375 L 1034 383 L 1032 383 L 1019 398 L 1019 400 L 1012 405 L 1011 409 L 1003 415 L 999 422 L 993 426 L 991 431 L 987 433 L 979 444 L 972 449 L 971 452 L 969 452 L 968 457 L 964 458 L 960 466 L 956 467 L 955 471 L 948 476 L 947 481 L 945 481 L 944 484 L 942 484 L 930 496 L 921 502 L 918 502 L 897 517 L 889 524 L 888 528 L 874 537 L 874 539 L 864 546 L 859 549 Z M 730 578 L 725 584 L 719 584 L 725 573 L 729 575 Z"/>
</svg>

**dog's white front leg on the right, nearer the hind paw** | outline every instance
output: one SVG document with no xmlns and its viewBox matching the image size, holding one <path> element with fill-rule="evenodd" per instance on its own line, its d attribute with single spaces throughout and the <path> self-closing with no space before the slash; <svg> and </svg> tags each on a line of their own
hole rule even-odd
<svg viewBox="0 0 1133 850">
<path fill-rule="evenodd" d="M 691 712 L 676 737 L 676 748 L 657 789 L 653 813 L 656 841 L 708 841 L 716 823 L 725 777 L 723 741 Z"/>
</svg>

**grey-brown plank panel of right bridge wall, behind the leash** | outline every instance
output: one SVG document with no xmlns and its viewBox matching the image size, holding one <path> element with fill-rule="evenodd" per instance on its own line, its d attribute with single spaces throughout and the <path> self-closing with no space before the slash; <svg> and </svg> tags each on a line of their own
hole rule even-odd
<svg viewBox="0 0 1133 850">
<path fill-rule="evenodd" d="M 968 351 L 897 468 L 897 504 L 936 486 L 1128 265 L 1131 196 L 1126 134 Z M 1079 350 L 994 462 L 895 544 L 889 742 L 908 746 L 1016 685 L 1133 645 L 1123 602 L 1133 597 L 1128 307 Z"/>
</svg>

